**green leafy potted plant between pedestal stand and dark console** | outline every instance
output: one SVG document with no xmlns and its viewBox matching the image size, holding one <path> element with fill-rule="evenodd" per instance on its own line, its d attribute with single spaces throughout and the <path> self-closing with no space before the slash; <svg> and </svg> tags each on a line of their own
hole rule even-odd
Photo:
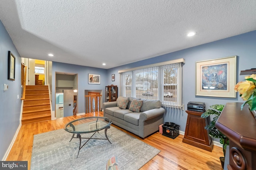
<svg viewBox="0 0 256 170">
<path fill-rule="evenodd" d="M 220 116 L 220 113 L 222 112 L 224 106 L 225 105 L 221 105 L 221 104 L 212 105 L 210 106 L 210 108 L 212 109 L 206 110 L 201 115 L 202 118 L 206 118 L 210 115 L 214 116 L 212 121 L 210 121 L 209 125 L 206 125 L 204 128 L 209 131 L 210 137 L 220 139 L 220 144 L 222 144 L 222 150 L 224 154 L 224 157 L 220 157 L 222 168 L 224 168 L 226 149 L 227 149 L 227 146 L 229 145 L 229 139 L 215 127 L 215 123 L 218 120 L 218 117 Z"/>
</svg>

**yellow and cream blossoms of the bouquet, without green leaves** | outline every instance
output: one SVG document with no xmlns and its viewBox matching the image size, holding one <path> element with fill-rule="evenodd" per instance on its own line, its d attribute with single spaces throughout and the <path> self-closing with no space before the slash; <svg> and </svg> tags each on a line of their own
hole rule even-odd
<svg viewBox="0 0 256 170">
<path fill-rule="evenodd" d="M 252 74 L 251 76 L 246 76 L 246 79 L 253 78 L 256 80 L 256 74 Z M 254 82 L 246 80 L 245 82 L 239 82 L 235 86 L 235 91 L 239 92 L 239 94 L 242 94 L 243 100 L 248 100 L 250 96 L 253 94 L 253 90 L 255 88 Z"/>
</svg>

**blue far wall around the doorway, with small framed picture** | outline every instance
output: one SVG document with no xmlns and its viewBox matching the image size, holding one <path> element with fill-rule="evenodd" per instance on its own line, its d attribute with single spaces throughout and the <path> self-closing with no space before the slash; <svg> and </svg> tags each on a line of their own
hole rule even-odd
<svg viewBox="0 0 256 170">
<path fill-rule="evenodd" d="M 85 112 L 84 90 L 102 90 L 102 101 L 105 101 L 105 86 L 107 86 L 106 69 L 94 68 L 88 66 L 78 66 L 74 64 L 65 64 L 52 62 L 52 110 L 55 110 L 55 76 L 56 72 L 65 72 L 77 74 L 78 80 L 78 113 Z M 88 74 L 100 74 L 100 84 L 88 84 Z"/>
</svg>

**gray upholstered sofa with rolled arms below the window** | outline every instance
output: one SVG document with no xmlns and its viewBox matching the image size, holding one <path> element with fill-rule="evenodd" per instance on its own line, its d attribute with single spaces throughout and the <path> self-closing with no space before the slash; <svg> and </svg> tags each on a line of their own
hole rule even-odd
<svg viewBox="0 0 256 170">
<path fill-rule="evenodd" d="M 120 109 L 122 99 L 129 99 L 126 109 Z M 135 98 L 118 97 L 116 102 L 103 103 L 104 117 L 112 120 L 112 123 L 138 135 L 142 139 L 158 131 L 159 125 L 163 124 L 163 114 L 165 113 L 162 108 L 160 100 L 142 100 L 142 106 L 137 112 L 129 110 L 132 101 Z M 134 100 L 134 102 L 136 101 Z M 120 104 L 121 103 L 121 104 Z"/>
</svg>

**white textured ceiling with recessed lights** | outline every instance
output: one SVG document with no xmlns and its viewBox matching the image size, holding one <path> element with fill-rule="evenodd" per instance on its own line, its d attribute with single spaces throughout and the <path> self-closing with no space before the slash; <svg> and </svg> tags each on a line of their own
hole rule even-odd
<svg viewBox="0 0 256 170">
<path fill-rule="evenodd" d="M 112 68 L 254 31 L 256 0 L 0 0 L 0 20 L 21 57 Z"/>
</svg>

